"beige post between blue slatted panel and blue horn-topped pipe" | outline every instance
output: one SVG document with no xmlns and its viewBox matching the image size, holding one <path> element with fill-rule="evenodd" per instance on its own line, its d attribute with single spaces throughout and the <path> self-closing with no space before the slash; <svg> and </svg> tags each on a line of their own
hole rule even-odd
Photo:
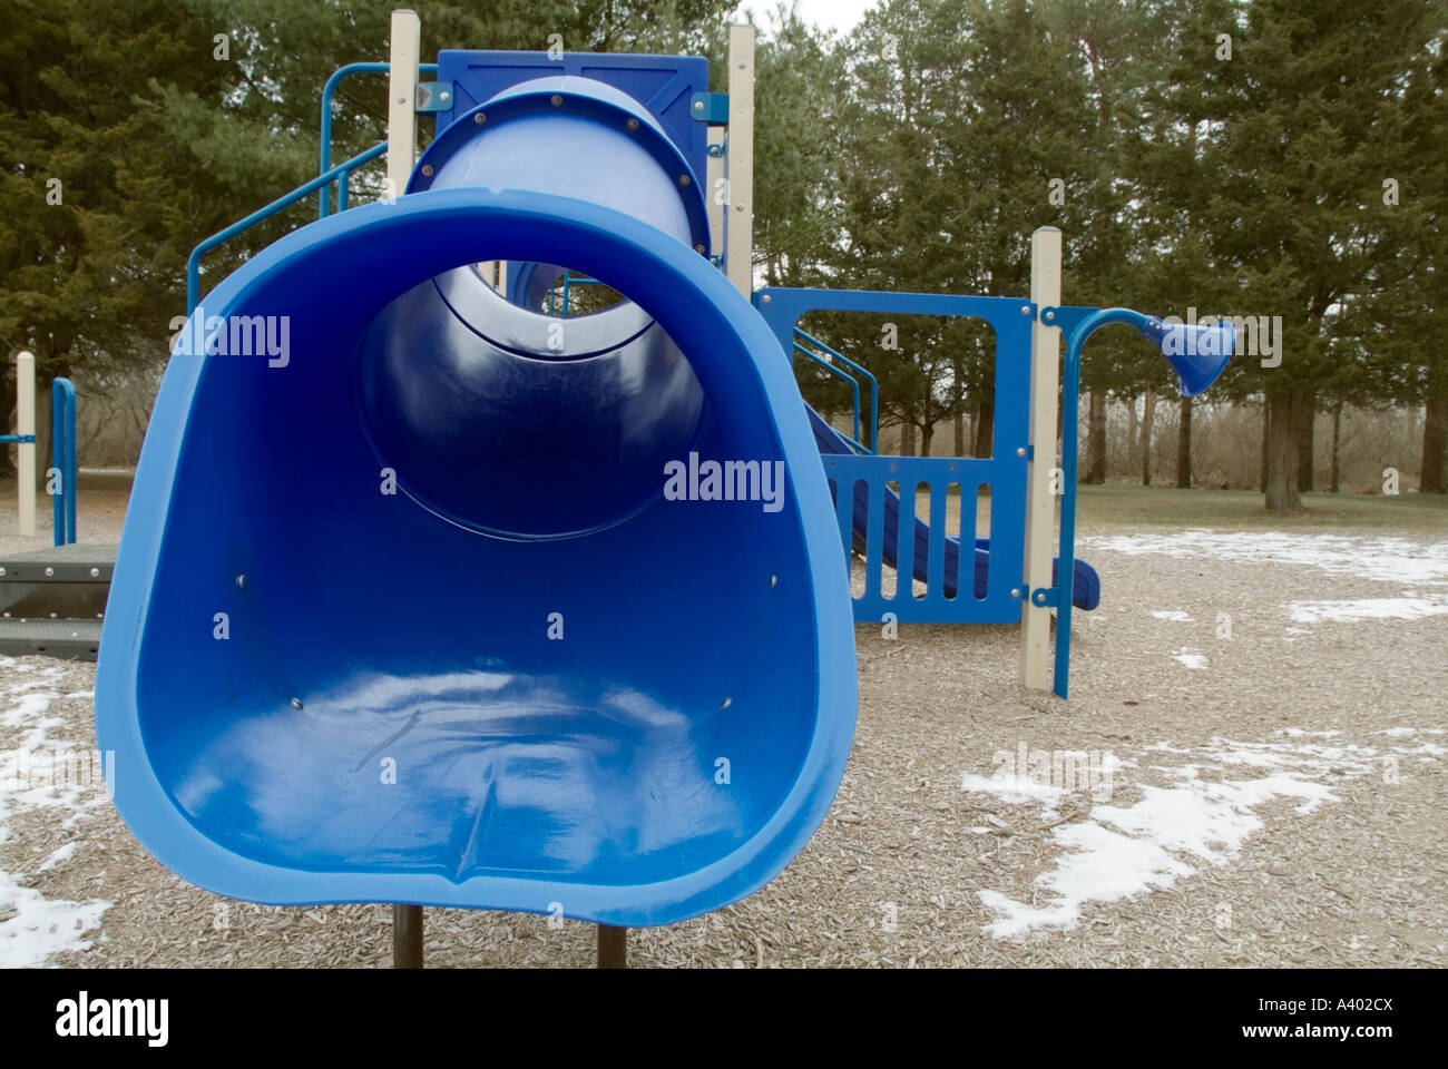
<svg viewBox="0 0 1448 1069">
<path fill-rule="evenodd" d="M 1021 682 L 1031 689 L 1051 685 L 1051 608 L 1034 605 L 1030 591 L 1051 585 L 1056 543 L 1056 393 L 1060 387 L 1061 330 L 1047 326 L 1040 310 L 1061 303 L 1061 232 L 1043 226 L 1031 235 L 1031 459 L 1025 484 L 1025 590 L 1021 591 Z M 1070 429 L 1067 429 L 1070 433 Z M 1061 577 L 1070 597 L 1072 577 Z"/>
</svg>

